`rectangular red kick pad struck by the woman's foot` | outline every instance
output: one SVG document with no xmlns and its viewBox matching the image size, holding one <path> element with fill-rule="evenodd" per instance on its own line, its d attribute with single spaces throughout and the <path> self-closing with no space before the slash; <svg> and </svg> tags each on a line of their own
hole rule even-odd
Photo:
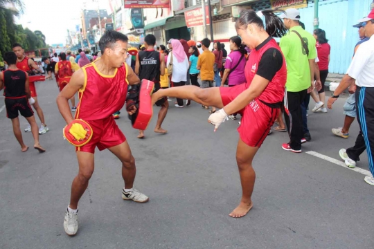
<svg viewBox="0 0 374 249">
<path fill-rule="evenodd" d="M 153 114 L 151 95 L 154 89 L 154 82 L 150 80 L 141 81 L 141 89 L 139 91 L 139 109 L 132 127 L 134 129 L 145 130 L 150 123 Z"/>
</svg>

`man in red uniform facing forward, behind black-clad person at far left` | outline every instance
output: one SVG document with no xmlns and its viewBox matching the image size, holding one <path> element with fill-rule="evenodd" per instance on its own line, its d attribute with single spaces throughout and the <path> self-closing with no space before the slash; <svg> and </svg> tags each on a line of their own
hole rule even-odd
<svg viewBox="0 0 374 249">
<path fill-rule="evenodd" d="M 25 50 L 22 48 L 20 44 L 13 44 L 12 46 L 13 52 L 17 55 L 17 68 L 21 69 L 22 71 L 25 71 L 26 73 L 33 72 L 33 69 L 38 71 L 39 73 L 42 73 L 39 69 L 39 66 L 35 64 L 35 62 L 24 55 Z M 37 111 L 37 116 L 39 117 L 40 122 L 42 122 L 39 134 L 44 134 L 47 131 L 49 131 L 48 127 L 46 126 L 46 122 L 44 120 L 44 113 L 42 110 L 42 107 L 39 106 L 39 102 L 37 101 L 37 93 L 34 82 L 30 82 L 30 93 L 31 97 L 35 100 L 35 103 L 33 104 L 33 107 L 35 111 Z M 25 129 L 26 132 L 31 131 L 30 125 Z"/>
</svg>

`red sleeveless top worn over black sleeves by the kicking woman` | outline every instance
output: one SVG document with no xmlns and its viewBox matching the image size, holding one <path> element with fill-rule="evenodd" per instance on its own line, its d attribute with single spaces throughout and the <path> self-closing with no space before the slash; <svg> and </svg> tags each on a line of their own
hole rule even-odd
<svg viewBox="0 0 374 249">
<path fill-rule="evenodd" d="M 260 62 L 262 55 L 269 48 L 276 48 L 282 53 L 281 48 L 278 46 L 278 44 L 276 44 L 276 41 L 274 39 L 269 40 L 269 42 L 267 42 L 267 44 L 262 46 L 259 50 L 253 49 L 251 51 L 251 54 L 249 55 L 247 64 L 244 69 L 245 78 L 247 79 L 247 88 L 249 88 L 253 80 L 253 77 L 257 73 L 258 63 Z M 258 99 L 269 104 L 283 102 L 286 81 L 287 68 L 285 63 L 285 57 L 283 56 L 283 65 L 281 69 L 278 72 L 276 72 L 276 75 L 274 75 L 273 79 L 271 80 L 271 82 L 269 82 L 266 89 L 261 93 L 261 95 L 258 96 Z"/>
</svg>

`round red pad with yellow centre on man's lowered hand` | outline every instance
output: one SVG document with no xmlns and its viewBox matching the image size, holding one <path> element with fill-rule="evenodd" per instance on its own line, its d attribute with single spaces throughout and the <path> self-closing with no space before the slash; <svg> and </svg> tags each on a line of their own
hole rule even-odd
<svg viewBox="0 0 374 249">
<path fill-rule="evenodd" d="M 92 138 L 92 128 L 84 120 L 73 120 L 70 124 L 66 125 L 63 129 L 64 138 L 74 145 L 81 147 L 86 145 Z"/>
</svg>

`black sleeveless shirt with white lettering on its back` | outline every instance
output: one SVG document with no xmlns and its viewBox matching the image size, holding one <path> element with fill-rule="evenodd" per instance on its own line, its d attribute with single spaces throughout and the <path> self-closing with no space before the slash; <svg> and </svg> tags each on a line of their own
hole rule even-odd
<svg viewBox="0 0 374 249">
<path fill-rule="evenodd" d="M 140 80 L 160 82 L 160 53 L 155 50 L 143 50 L 138 56 Z"/>
</svg>

